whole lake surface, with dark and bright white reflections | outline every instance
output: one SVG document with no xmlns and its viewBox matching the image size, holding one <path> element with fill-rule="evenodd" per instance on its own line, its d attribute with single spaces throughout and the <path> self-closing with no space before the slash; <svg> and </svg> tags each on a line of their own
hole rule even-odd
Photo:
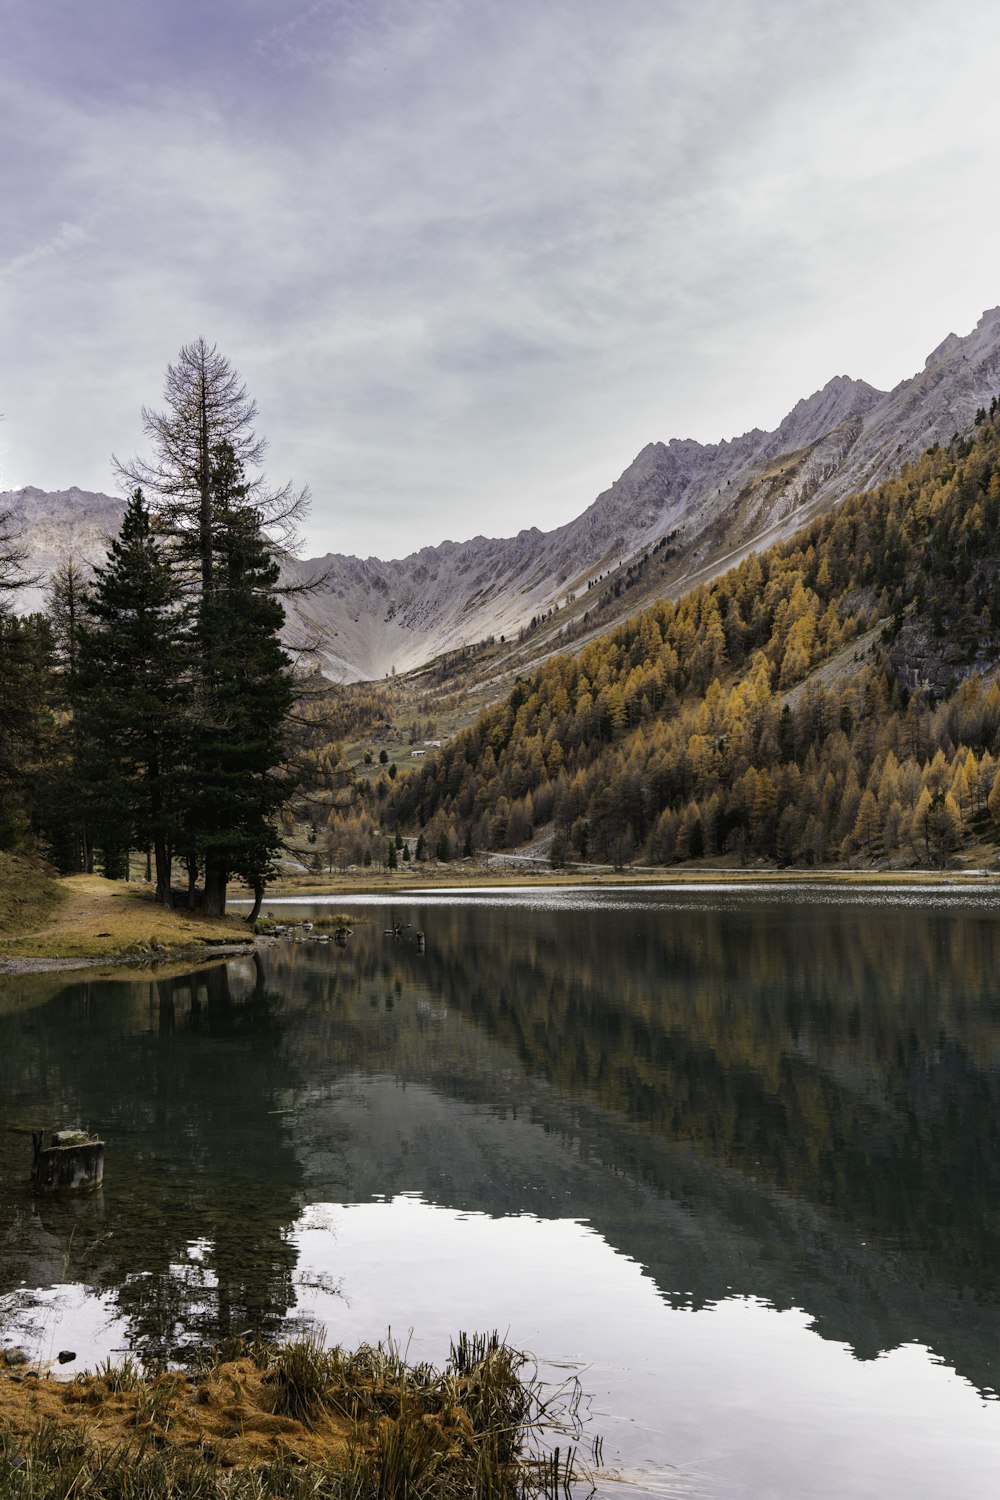
<svg viewBox="0 0 1000 1500">
<path fill-rule="evenodd" d="M 97 1198 L 39 1204 L 0 1137 L 6 1342 L 498 1326 L 633 1490 L 996 1492 L 987 890 L 351 909 L 343 948 L 0 981 L 4 1122 L 108 1140 Z"/>
</svg>

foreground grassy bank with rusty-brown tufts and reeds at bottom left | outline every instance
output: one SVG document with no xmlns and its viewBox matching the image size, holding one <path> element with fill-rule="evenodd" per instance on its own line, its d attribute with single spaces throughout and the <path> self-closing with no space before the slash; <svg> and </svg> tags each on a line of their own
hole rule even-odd
<svg viewBox="0 0 1000 1500">
<path fill-rule="evenodd" d="M 570 1468 L 543 1454 L 576 1426 L 496 1335 L 444 1371 L 388 1347 L 231 1340 L 190 1372 L 126 1360 L 73 1382 L 0 1374 L 0 1496 L 42 1500 L 529 1500 Z"/>
</svg>

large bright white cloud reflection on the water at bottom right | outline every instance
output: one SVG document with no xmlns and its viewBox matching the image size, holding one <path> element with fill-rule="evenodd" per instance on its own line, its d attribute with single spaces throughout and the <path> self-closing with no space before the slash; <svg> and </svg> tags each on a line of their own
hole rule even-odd
<svg viewBox="0 0 1000 1500">
<path fill-rule="evenodd" d="M 747 1296 L 672 1306 L 579 1220 L 493 1218 L 415 1194 L 325 1214 L 324 1228 L 304 1218 L 294 1232 L 300 1270 L 336 1269 L 345 1296 L 300 1296 L 298 1314 L 333 1342 L 391 1335 L 430 1360 L 462 1329 L 499 1329 L 544 1380 L 576 1372 L 609 1476 L 625 1480 L 603 1494 L 993 1497 L 997 1410 L 921 1346 L 859 1364 L 799 1308 Z"/>
</svg>

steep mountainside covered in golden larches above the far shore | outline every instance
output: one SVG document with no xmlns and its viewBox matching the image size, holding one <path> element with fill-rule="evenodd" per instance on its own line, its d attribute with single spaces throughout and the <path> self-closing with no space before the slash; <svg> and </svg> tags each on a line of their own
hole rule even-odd
<svg viewBox="0 0 1000 1500">
<path fill-rule="evenodd" d="M 849 676 L 811 678 L 861 636 Z M 550 824 L 555 862 L 940 866 L 1000 822 L 997 660 L 994 399 L 898 478 L 519 681 L 384 819 L 454 854 Z"/>
</svg>

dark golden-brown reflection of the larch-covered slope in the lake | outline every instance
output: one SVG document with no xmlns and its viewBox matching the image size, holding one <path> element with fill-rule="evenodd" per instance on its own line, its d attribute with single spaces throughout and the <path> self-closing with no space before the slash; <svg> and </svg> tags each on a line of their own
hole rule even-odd
<svg viewBox="0 0 1000 1500">
<path fill-rule="evenodd" d="M 312 1036 L 327 1059 L 408 1072 L 412 1034 L 400 1048 L 384 1005 L 415 982 L 565 1095 L 919 1252 L 949 1281 L 961 1268 L 981 1290 L 1000 1286 L 988 914 L 757 903 L 435 909 L 420 922 L 423 956 L 367 933 L 349 962 L 276 957 L 276 982 L 325 1006 L 325 1028 L 316 1011 L 297 1030 L 303 1062 Z M 667 1186 L 675 1168 L 642 1152 L 642 1170 Z"/>
</svg>

